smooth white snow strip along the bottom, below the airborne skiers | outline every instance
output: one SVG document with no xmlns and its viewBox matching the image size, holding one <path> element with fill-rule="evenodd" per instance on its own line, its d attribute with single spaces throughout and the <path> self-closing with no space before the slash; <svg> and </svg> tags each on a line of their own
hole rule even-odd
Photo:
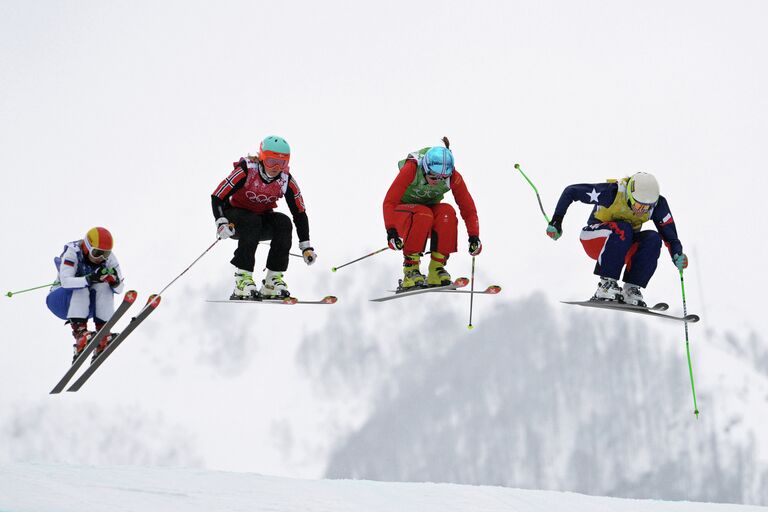
<svg viewBox="0 0 768 512">
<path fill-rule="evenodd" d="M 554 491 L 247 473 L 43 464 L 0 466 L 0 512 L 747 512 L 746 505 L 627 500 Z"/>
</svg>

